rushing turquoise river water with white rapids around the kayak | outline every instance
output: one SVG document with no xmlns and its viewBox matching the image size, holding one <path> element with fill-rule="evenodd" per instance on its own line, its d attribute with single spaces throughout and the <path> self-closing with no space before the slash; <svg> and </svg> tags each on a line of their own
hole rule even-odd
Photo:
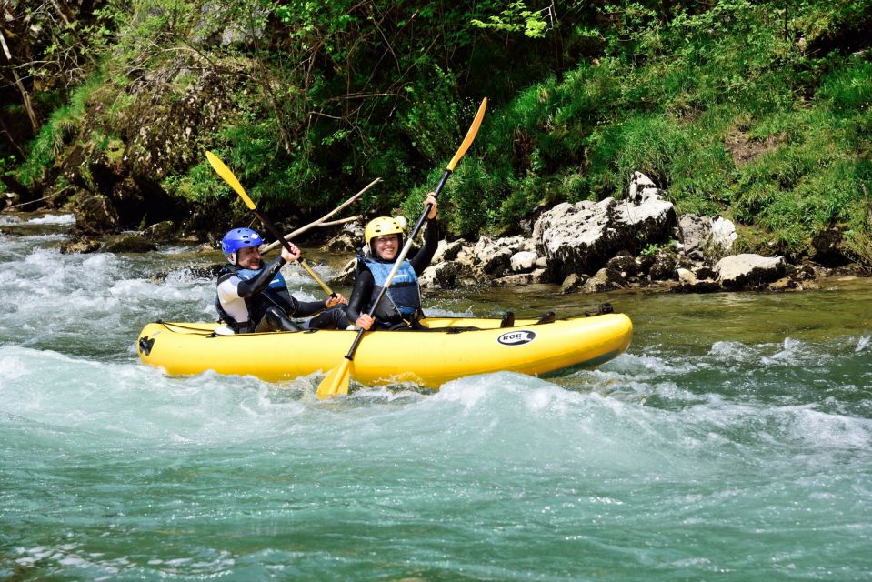
<svg viewBox="0 0 872 582">
<path fill-rule="evenodd" d="M 0 215 L 0 579 L 872 579 L 868 279 L 443 292 L 431 313 L 608 300 L 636 334 L 596 370 L 323 403 L 319 377 L 139 364 L 146 322 L 214 319 L 191 267 L 219 256 L 61 255 L 70 221 Z"/>
</svg>

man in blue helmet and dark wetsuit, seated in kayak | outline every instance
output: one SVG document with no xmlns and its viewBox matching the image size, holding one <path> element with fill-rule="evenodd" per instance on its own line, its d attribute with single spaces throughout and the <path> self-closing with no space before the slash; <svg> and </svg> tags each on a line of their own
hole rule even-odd
<svg viewBox="0 0 872 582">
<path fill-rule="evenodd" d="M 250 228 L 234 228 L 221 240 L 221 250 L 229 265 L 218 273 L 218 296 L 215 308 L 221 320 L 237 334 L 265 331 L 302 331 L 291 317 L 319 316 L 317 326 L 336 326 L 335 320 L 345 321 L 345 313 L 338 303 L 347 303 L 337 295 L 326 301 L 297 301 L 288 290 L 282 266 L 296 261 L 301 253 L 293 243 L 291 250 L 282 247 L 281 256 L 264 266 L 259 246 L 264 239 Z"/>
</svg>

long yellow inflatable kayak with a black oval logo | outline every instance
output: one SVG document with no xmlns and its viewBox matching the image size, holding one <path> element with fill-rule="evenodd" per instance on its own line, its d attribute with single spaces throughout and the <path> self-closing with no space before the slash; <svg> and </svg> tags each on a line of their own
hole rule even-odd
<svg viewBox="0 0 872 582">
<path fill-rule="evenodd" d="M 624 352 L 633 324 L 623 314 L 545 322 L 427 317 L 427 331 L 366 332 L 352 362 L 356 381 L 374 386 L 449 380 L 503 370 L 539 375 L 596 366 Z M 152 323 L 136 342 L 139 358 L 171 375 L 215 370 L 269 382 L 326 373 L 342 362 L 355 331 L 315 330 L 221 335 L 219 324 Z"/>
</svg>

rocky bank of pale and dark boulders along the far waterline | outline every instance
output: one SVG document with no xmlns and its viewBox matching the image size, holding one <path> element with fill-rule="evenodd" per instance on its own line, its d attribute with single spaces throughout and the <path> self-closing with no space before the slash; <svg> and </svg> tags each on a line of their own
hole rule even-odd
<svg viewBox="0 0 872 582">
<path fill-rule="evenodd" d="M 75 209 L 63 253 L 142 253 L 160 244 L 186 241 L 216 247 L 213 232 L 162 221 L 142 231 L 117 232 L 112 206 L 99 197 Z M 442 240 L 421 277 L 422 286 L 523 286 L 556 284 L 562 293 L 598 293 L 646 287 L 680 293 L 737 290 L 801 290 L 838 275 L 872 276 L 848 261 L 839 233 L 818 236 L 814 256 L 738 252 L 734 224 L 721 216 L 677 214 L 668 193 L 636 173 L 626 196 L 599 202 L 562 203 L 543 211 L 529 234 L 472 242 Z M 363 239 L 363 224 L 349 223 L 324 249 L 353 254 Z M 306 241 L 308 246 L 315 243 Z M 354 280 L 354 260 L 335 277 L 336 286 Z"/>
</svg>

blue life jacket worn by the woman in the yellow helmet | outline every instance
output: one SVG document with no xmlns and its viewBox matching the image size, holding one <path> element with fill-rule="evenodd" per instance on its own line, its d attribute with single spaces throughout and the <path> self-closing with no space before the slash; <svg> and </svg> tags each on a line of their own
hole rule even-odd
<svg viewBox="0 0 872 582">
<path fill-rule="evenodd" d="M 387 276 L 394 263 L 382 263 L 371 256 L 358 257 L 363 261 L 366 268 L 373 274 L 376 285 L 373 287 L 373 295 L 369 298 L 366 312 L 370 313 L 373 302 L 385 286 Z M 414 320 L 421 315 L 421 287 L 418 285 L 418 276 L 408 259 L 396 270 L 396 275 L 387 288 L 385 296 L 376 306 L 373 316 L 382 322 L 400 323 L 402 320 Z"/>
</svg>

